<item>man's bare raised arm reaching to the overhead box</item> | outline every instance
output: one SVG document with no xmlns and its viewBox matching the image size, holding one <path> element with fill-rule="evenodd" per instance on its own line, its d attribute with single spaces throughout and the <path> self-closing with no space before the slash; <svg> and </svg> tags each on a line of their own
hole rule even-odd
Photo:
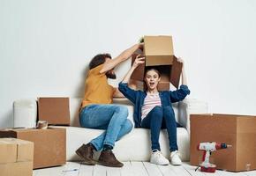
<svg viewBox="0 0 256 176">
<path fill-rule="evenodd" d="M 120 55 L 114 59 L 104 62 L 102 70 L 100 73 L 105 73 L 114 67 L 116 67 L 120 62 L 124 62 L 139 48 L 143 48 L 143 43 L 135 44 L 131 48 L 124 50 Z"/>
</svg>

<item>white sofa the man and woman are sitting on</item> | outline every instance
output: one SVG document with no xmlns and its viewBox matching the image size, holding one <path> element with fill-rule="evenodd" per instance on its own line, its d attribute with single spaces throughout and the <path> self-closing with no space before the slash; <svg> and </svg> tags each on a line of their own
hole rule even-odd
<svg viewBox="0 0 256 176">
<path fill-rule="evenodd" d="M 51 126 L 50 128 L 66 128 L 66 160 L 79 160 L 75 150 L 82 143 L 88 143 L 91 139 L 99 136 L 102 130 L 79 127 L 79 105 L 81 99 L 70 99 L 71 126 Z M 115 104 L 128 107 L 129 119 L 132 120 L 133 106 L 128 99 L 114 99 Z M 35 99 L 19 99 L 13 103 L 14 128 L 31 128 L 36 123 L 37 107 Z M 207 113 L 207 103 L 197 99 L 184 99 L 184 101 L 173 104 L 177 122 L 183 128 L 177 128 L 177 144 L 179 154 L 183 161 L 188 161 L 190 157 L 190 114 Z M 29 117 L 29 118 L 27 118 Z M 24 121 L 26 119 L 26 121 Z M 169 141 L 166 129 L 160 134 L 160 145 L 162 153 L 169 158 Z M 133 128 L 132 132 L 124 136 L 116 143 L 113 150 L 120 161 L 148 161 L 150 158 L 150 132 L 148 129 Z M 96 152 L 95 158 L 99 156 Z"/>
</svg>

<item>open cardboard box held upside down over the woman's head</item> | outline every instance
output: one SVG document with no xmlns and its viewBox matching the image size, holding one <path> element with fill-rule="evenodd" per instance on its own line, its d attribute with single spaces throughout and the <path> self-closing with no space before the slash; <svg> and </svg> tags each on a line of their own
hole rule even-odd
<svg viewBox="0 0 256 176">
<path fill-rule="evenodd" d="M 145 70 L 154 67 L 160 71 L 159 91 L 169 90 L 169 82 L 178 88 L 182 63 L 174 55 L 171 36 L 145 36 L 144 50 L 132 55 L 132 64 L 137 55 L 145 55 L 146 61 L 133 71 L 131 78 L 143 82 Z"/>
</svg>

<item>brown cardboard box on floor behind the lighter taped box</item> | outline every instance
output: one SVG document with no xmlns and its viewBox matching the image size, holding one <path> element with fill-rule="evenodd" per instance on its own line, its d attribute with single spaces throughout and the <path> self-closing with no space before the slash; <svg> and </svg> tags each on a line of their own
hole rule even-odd
<svg viewBox="0 0 256 176">
<path fill-rule="evenodd" d="M 66 133 L 59 129 L 4 129 L 0 137 L 14 137 L 34 142 L 34 169 L 65 165 Z"/>
</svg>

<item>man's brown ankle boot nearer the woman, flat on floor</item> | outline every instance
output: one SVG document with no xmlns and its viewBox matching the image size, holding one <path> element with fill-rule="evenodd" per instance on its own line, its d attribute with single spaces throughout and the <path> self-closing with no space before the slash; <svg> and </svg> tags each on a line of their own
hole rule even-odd
<svg viewBox="0 0 256 176">
<path fill-rule="evenodd" d="M 112 150 L 102 150 L 98 163 L 109 167 L 123 167 L 123 163 L 119 162 Z"/>
</svg>

